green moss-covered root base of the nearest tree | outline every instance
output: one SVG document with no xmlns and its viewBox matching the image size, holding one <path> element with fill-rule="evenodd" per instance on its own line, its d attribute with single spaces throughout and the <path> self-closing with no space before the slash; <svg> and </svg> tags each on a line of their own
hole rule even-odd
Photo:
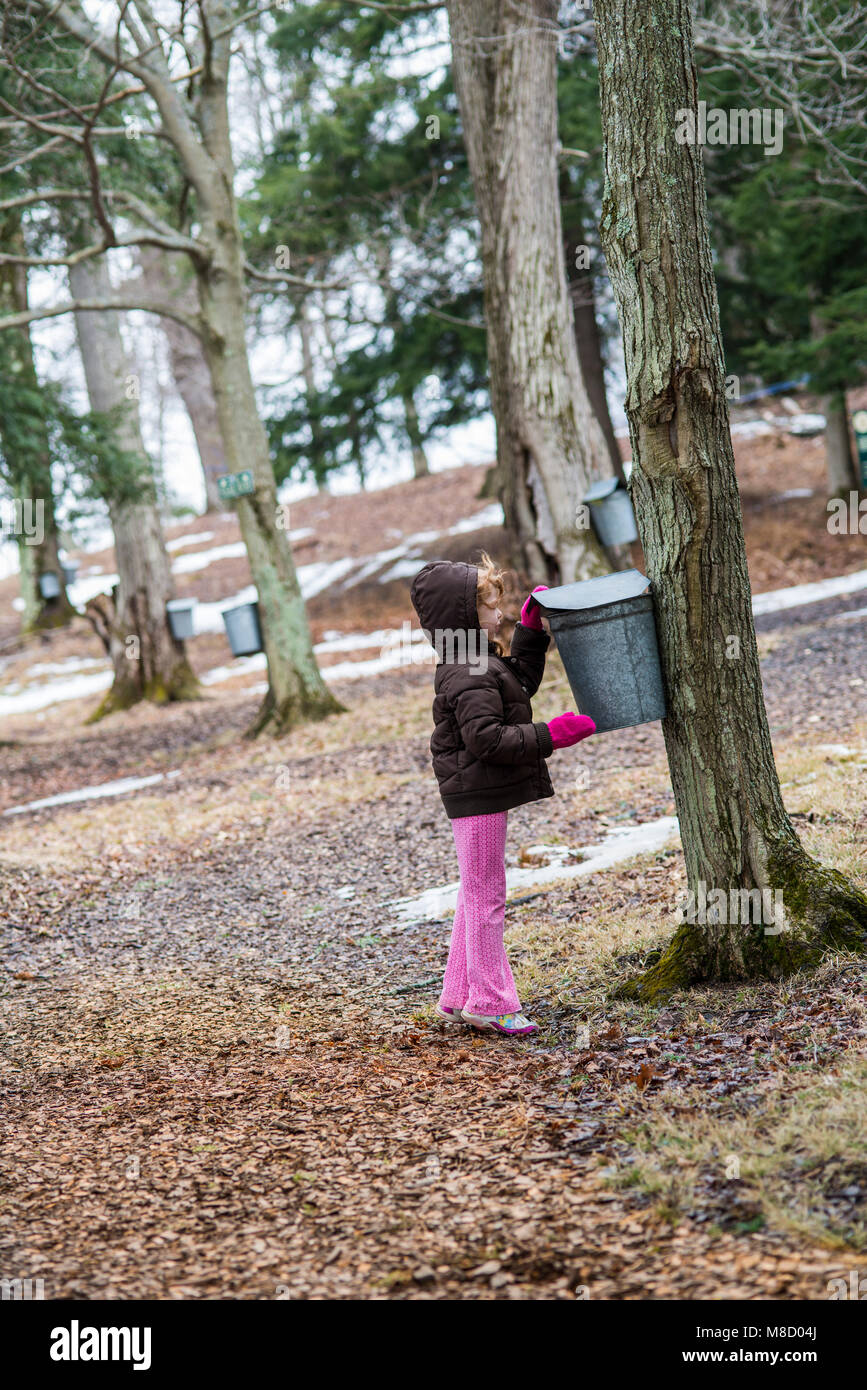
<svg viewBox="0 0 867 1390">
<path fill-rule="evenodd" d="M 814 969 L 828 951 L 867 952 L 867 894 L 836 869 L 810 859 L 796 841 L 779 844 L 768 867 L 782 897 L 782 930 L 684 922 L 659 959 L 614 997 L 657 1004 L 692 984 L 781 980 Z"/>
</svg>

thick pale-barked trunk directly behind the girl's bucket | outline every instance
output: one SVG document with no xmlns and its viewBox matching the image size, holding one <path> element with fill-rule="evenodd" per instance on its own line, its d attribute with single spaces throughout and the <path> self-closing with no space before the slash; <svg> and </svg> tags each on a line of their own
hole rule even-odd
<svg viewBox="0 0 867 1390">
<path fill-rule="evenodd" d="M 482 229 L 490 399 L 506 524 L 535 582 L 603 574 L 586 484 L 609 450 L 581 379 L 557 181 L 557 4 L 447 0 Z"/>
</svg>

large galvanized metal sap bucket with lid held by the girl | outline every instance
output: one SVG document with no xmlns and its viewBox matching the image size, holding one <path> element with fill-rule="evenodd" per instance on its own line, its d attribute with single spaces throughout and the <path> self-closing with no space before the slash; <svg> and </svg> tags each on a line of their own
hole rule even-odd
<svg viewBox="0 0 867 1390">
<path fill-rule="evenodd" d="M 572 694 L 599 733 L 666 716 L 650 581 L 638 570 L 536 595 Z"/>
</svg>

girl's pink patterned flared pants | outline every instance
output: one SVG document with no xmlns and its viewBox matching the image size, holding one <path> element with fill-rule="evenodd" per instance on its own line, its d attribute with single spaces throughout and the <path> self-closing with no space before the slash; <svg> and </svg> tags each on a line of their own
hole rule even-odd
<svg viewBox="0 0 867 1390">
<path fill-rule="evenodd" d="M 521 1008 L 503 947 L 506 926 L 506 823 L 509 812 L 452 821 L 460 888 L 440 1005 L 470 1013 Z"/>
</svg>

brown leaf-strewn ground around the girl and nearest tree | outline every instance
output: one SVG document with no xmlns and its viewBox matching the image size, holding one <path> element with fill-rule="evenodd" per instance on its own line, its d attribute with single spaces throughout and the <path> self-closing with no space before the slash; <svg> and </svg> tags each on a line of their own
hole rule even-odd
<svg viewBox="0 0 867 1390">
<path fill-rule="evenodd" d="M 856 609 L 761 642 L 789 809 L 864 883 Z M 447 1029 L 447 923 L 392 909 L 454 877 L 429 673 L 343 694 L 278 744 L 224 695 L 4 749 L 7 805 L 179 777 L 3 823 L 0 1272 L 47 1298 L 827 1298 L 867 1258 L 866 963 L 613 1005 L 672 929 L 667 851 L 518 894 L 538 1037 Z M 564 698 L 554 660 L 536 717 Z M 513 863 L 674 809 L 657 726 L 554 781 Z"/>
</svg>

